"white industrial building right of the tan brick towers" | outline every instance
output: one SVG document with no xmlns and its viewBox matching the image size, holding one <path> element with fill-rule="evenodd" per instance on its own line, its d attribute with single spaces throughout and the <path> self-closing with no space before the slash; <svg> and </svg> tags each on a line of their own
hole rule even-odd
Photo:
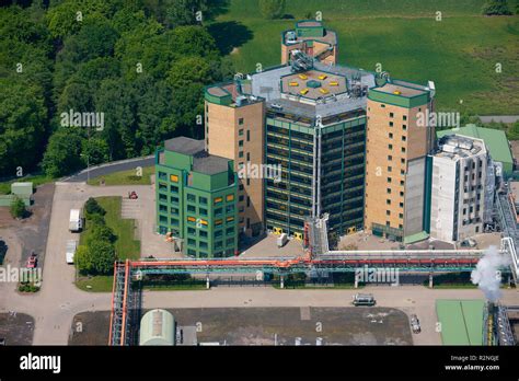
<svg viewBox="0 0 519 381">
<path fill-rule="evenodd" d="M 492 219 L 494 166 L 481 139 L 449 135 L 432 155 L 430 236 L 448 242 L 483 232 Z"/>
</svg>

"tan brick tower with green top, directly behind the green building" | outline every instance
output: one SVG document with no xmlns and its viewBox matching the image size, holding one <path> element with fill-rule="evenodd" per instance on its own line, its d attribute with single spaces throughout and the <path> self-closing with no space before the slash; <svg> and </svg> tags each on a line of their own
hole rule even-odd
<svg viewBox="0 0 519 381">
<path fill-rule="evenodd" d="M 247 236 L 264 231 L 264 163 L 265 104 L 246 94 L 246 81 L 216 84 L 205 91 L 206 146 L 211 154 L 234 162 L 239 178 L 239 228 Z M 252 166 L 251 166 L 252 165 Z M 256 171 L 245 171 L 256 166 Z"/>
</svg>

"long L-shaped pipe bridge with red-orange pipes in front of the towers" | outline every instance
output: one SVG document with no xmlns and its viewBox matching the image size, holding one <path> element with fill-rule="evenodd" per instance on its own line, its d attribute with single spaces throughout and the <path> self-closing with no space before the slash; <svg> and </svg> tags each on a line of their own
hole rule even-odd
<svg viewBox="0 0 519 381">
<path fill-rule="evenodd" d="M 503 252 L 507 254 L 508 252 Z M 140 292 L 132 281 L 152 274 L 273 274 L 355 272 L 364 266 L 393 267 L 402 272 L 470 272 L 483 251 L 351 251 L 327 252 L 307 257 L 221 258 L 221 259 L 141 259 L 117 262 L 114 266 L 109 345 L 130 345 L 135 340 Z"/>
</svg>

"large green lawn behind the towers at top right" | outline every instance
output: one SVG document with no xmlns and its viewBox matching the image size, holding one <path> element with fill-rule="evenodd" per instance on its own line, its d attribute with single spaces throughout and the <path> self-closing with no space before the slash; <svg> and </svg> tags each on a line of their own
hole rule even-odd
<svg viewBox="0 0 519 381">
<path fill-rule="evenodd" d="M 485 0 L 289 0 L 291 20 L 266 22 L 256 1 L 233 0 L 210 25 L 240 72 L 280 62 L 280 33 L 321 11 L 339 41 L 339 64 L 437 89 L 437 106 L 481 115 L 519 114 L 519 16 L 483 16 Z M 509 1 L 515 5 L 514 1 Z M 510 7 L 510 8 L 512 8 Z M 436 21 L 436 11 L 442 21 Z M 495 65 L 503 65 L 496 73 Z M 462 104 L 460 104 L 462 101 Z"/>
</svg>

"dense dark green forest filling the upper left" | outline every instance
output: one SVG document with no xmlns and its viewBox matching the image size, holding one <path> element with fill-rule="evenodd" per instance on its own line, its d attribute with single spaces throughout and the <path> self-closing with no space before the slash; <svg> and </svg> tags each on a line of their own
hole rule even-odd
<svg viewBox="0 0 519 381">
<path fill-rule="evenodd" d="M 203 88 L 232 76 L 204 25 L 221 2 L 0 7 L 0 177 L 20 169 L 59 177 L 150 154 L 174 136 L 201 138 Z M 102 115 L 102 124 L 71 123 L 77 113 Z"/>
</svg>

